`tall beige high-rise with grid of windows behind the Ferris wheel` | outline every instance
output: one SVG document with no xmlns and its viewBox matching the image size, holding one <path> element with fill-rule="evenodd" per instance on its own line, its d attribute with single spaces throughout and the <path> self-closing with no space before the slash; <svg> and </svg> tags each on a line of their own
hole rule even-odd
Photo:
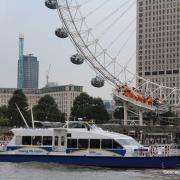
<svg viewBox="0 0 180 180">
<path fill-rule="evenodd" d="M 137 0 L 136 69 L 152 82 L 180 88 L 180 0 Z M 167 100 L 179 103 L 175 95 Z"/>
</svg>

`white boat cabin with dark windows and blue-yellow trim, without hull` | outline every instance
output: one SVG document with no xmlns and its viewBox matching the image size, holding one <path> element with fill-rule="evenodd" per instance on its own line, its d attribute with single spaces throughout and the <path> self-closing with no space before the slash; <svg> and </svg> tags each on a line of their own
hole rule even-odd
<svg viewBox="0 0 180 180">
<path fill-rule="evenodd" d="M 82 121 L 69 121 L 63 128 L 16 128 L 12 132 L 14 137 L 7 151 L 16 153 L 124 155 L 130 149 L 142 147 L 129 136 Z"/>
</svg>

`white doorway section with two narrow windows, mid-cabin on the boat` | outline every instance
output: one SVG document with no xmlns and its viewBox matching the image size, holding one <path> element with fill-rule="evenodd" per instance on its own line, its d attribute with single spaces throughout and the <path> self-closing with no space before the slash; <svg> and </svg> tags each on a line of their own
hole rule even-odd
<svg viewBox="0 0 180 180">
<path fill-rule="evenodd" d="M 66 130 L 58 129 L 55 130 L 55 135 L 54 135 L 54 148 L 55 151 L 66 151 Z"/>
</svg>

